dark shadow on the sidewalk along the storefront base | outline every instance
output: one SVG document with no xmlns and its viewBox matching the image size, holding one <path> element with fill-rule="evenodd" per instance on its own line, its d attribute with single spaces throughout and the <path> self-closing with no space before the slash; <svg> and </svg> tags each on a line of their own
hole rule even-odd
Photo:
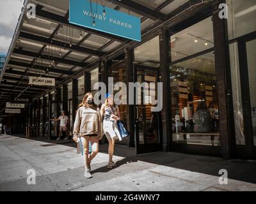
<svg viewBox="0 0 256 204">
<path fill-rule="evenodd" d="M 67 145 L 68 147 L 76 147 L 76 143 L 72 140 L 56 142 L 47 140 L 47 138 L 30 138 L 31 140 L 42 141 L 46 143 L 54 143 L 58 145 Z M 108 143 L 100 145 L 99 152 L 108 154 Z M 175 152 L 154 152 L 150 154 L 142 154 L 136 156 L 134 148 L 129 148 L 123 145 L 116 145 L 115 156 L 124 157 L 118 161 L 117 166 L 122 166 L 125 163 L 135 163 L 143 161 L 146 163 L 158 164 L 170 168 L 170 171 L 175 169 L 204 173 L 220 177 L 219 171 L 225 169 L 228 171 L 228 178 L 240 180 L 256 184 L 256 161 L 244 161 L 239 159 L 224 160 L 220 157 L 197 156 L 192 154 L 182 154 Z M 93 170 L 92 173 L 111 171 L 106 166 Z"/>
</svg>

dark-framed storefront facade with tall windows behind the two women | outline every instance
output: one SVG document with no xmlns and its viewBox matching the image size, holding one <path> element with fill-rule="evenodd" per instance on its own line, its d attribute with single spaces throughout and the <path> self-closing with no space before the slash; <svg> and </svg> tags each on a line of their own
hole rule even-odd
<svg viewBox="0 0 256 204">
<path fill-rule="evenodd" d="M 220 18 L 221 3 L 228 6 L 228 18 Z M 24 110 L 23 127 L 36 126 L 37 136 L 55 139 L 59 128 L 51 118 L 65 110 L 72 136 L 77 107 L 86 92 L 98 91 L 96 82 L 108 84 L 108 77 L 127 87 L 129 82 L 162 82 L 160 112 L 152 112 L 150 102 L 120 105 L 130 133 L 120 145 L 134 147 L 137 154 L 255 159 L 255 6 L 252 0 L 227 0 L 174 10 L 168 20 L 143 31 L 141 42 L 116 47 L 58 87 L 40 92 Z M 170 7 L 161 12 L 170 14 Z M 143 90 L 135 94 L 144 96 Z M 13 124 L 19 129 L 19 122 Z"/>
</svg>

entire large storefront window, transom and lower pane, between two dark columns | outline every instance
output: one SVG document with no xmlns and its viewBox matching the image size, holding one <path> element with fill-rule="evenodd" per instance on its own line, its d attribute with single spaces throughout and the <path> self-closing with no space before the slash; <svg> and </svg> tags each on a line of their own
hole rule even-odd
<svg viewBox="0 0 256 204">
<path fill-rule="evenodd" d="M 202 54 L 214 47 L 212 32 L 210 17 L 171 36 L 171 41 L 175 39 L 170 66 L 175 143 L 220 145 L 215 57 L 214 52 Z"/>
</svg>

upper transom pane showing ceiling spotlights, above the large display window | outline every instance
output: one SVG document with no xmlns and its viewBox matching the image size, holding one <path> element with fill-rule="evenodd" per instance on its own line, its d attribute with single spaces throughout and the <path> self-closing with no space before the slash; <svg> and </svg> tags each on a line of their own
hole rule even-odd
<svg viewBox="0 0 256 204">
<path fill-rule="evenodd" d="M 214 47 L 211 17 L 171 36 L 172 61 Z"/>
</svg>

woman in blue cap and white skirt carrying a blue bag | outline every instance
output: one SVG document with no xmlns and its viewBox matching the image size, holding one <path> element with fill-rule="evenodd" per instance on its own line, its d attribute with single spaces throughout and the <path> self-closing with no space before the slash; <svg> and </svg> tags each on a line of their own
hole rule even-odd
<svg viewBox="0 0 256 204">
<path fill-rule="evenodd" d="M 120 120 L 120 111 L 118 106 L 114 103 L 114 97 L 112 94 L 106 94 L 106 101 L 101 106 L 100 113 L 101 117 L 103 117 L 103 132 L 109 143 L 109 162 L 107 167 L 111 169 L 116 166 L 116 163 L 113 161 L 115 140 L 122 140 L 116 123 L 117 120 Z"/>
</svg>

